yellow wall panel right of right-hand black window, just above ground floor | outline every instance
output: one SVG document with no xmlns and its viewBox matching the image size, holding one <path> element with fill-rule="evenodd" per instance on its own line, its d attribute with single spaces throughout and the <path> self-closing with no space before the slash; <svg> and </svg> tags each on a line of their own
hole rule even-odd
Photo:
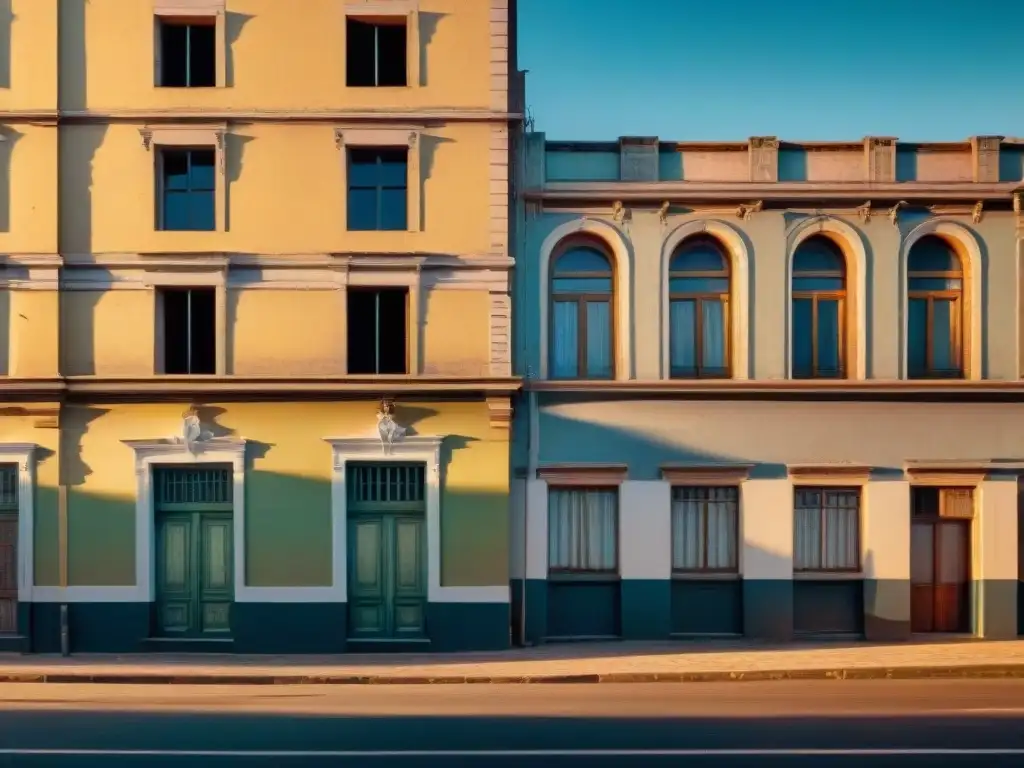
<svg viewBox="0 0 1024 768">
<path fill-rule="evenodd" d="M 489 373 L 489 301 L 485 291 L 433 290 L 427 293 L 424 373 L 449 376 L 486 376 Z"/>
</svg>

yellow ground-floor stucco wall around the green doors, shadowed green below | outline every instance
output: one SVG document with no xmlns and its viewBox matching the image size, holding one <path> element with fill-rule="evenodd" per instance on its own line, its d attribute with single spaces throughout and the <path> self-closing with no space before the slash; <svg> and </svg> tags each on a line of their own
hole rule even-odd
<svg viewBox="0 0 1024 768">
<path fill-rule="evenodd" d="M 71 586 L 129 586 L 135 578 L 136 476 L 125 439 L 180 430 L 180 404 L 69 407 L 62 417 Z M 247 584 L 326 586 L 331 580 L 330 445 L 325 437 L 375 433 L 374 403 L 233 403 L 202 409 L 215 435 L 247 438 Z M 508 584 L 508 443 L 482 403 L 416 403 L 399 419 L 418 434 L 443 435 L 442 586 Z M 55 430 L 3 420 L 5 440 L 55 443 Z M 42 435 L 42 437 L 40 437 Z M 45 440 L 43 439 L 45 438 Z M 54 444 L 55 450 L 55 444 Z M 55 461 L 40 465 L 37 586 L 59 574 Z M 53 476 L 51 476 L 53 475 Z"/>
</svg>

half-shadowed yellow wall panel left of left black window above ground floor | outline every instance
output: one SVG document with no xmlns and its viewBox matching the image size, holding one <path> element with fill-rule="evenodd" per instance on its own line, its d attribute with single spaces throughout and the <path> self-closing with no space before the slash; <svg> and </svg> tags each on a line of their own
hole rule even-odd
<svg viewBox="0 0 1024 768">
<path fill-rule="evenodd" d="M 153 291 L 65 291 L 61 302 L 66 376 L 153 375 Z"/>
</svg>

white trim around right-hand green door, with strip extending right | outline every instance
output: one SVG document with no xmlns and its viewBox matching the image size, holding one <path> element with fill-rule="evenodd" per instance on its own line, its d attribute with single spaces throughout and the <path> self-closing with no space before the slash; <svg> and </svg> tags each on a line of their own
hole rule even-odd
<svg viewBox="0 0 1024 768">
<path fill-rule="evenodd" d="M 349 462 L 423 462 L 427 496 L 427 602 L 507 603 L 508 587 L 442 587 L 440 583 L 440 450 L 441 438 L 409 436 L 384 454 L 380 437 L 325 437 L 331 443 L 331 522 L 333 527 L 335 585 L 341 601 L 348 599 L 348 509 L 345 468 Z"/>
</svg>

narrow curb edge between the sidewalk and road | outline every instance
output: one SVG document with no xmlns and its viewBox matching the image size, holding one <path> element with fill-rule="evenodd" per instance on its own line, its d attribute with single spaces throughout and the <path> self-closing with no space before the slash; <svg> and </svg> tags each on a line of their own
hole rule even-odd
<svg viewBox="0 0 1024 768">
<path fill-rule="evenodd" d="M 1024 664 L 948 667 L 861 667 L 748 672 L 617 672 L 585 675 L 151 675 L 89 672 L 0 672 L 2 683 L 101 685 L 467 685 L 580 683 L 742 683 L 785 680 L 949 680 L 1024 678 Z"/>
</svg>

